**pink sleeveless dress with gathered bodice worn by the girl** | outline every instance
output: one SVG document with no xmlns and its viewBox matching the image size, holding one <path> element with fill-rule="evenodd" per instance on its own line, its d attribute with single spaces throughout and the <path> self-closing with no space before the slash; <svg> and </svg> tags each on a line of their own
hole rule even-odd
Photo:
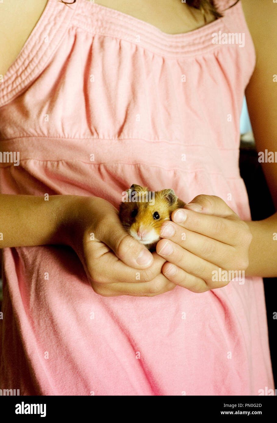
<svg viewBox="0 0 277 423">
<path fill-rule="evenodd" d="M 233 0 L 217 3 L 224 9 Z M 245 44 L 213 43 L 219 31 L 244 34 Z M 173 188 L 186 202 L 218 195 L 250 220 L 238 154 L 254 67 L 241 2 L 204 27 L 170 35 L 88 0 L 48 0 L 0 82 L 0 151 L 20 153 L 18 166 L 0 163 L 0 190 L 94 195 L 118 206 L 136 183 Z M 101 297 L 75 252 L 50 245 L 6 248 L 4 271 L 1 389 L 274 389 L 259 277 L 202 294 L 177 286 L 156 297 Z"/>
</svg>

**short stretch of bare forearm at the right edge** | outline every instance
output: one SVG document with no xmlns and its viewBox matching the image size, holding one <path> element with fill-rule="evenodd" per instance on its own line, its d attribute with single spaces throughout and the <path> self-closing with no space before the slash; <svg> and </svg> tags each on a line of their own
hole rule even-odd
<svg viewBox="0 0 277 423">
<path fill-rule="evenodd" d="M 277 213 L 264 220 L 246 223 L 253 239 L 245 275 L 277 277 Z"/>
</svg>

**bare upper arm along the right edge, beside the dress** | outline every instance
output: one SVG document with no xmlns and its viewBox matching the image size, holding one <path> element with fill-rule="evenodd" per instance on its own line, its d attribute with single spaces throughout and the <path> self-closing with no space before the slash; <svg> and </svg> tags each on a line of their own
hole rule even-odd
<svg viewBox="0 0 277 423">
<path fill-rule="evenodd" d="M 256 51 L 256 66 L 245 94 L 257 151 L 277 150 L 276 22 L 273 0 L 241 0 L 247 26 Z M 262 163 L 277 209 L 277 164 Z"/>
</svg>

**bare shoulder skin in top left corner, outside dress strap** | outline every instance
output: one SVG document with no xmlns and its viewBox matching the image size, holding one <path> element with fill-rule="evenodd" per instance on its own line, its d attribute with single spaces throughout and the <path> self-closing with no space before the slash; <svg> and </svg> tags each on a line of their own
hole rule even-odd
<svg viewBox="0 0 277 423">
<path fill-rule="evenodd" d="M 39 20 L 47 0 L 0 2 L 0 74 L 5 75 Z"/>
</svg>

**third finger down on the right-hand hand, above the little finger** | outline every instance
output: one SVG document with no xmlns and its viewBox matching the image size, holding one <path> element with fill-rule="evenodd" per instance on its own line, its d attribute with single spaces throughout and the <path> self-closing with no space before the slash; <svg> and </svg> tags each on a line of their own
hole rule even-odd
<svg viewBox="0 0 277 423">
<path fill-rule="evenodd" d="M 168 239 L 161 239 L 157 244 L 157 253 L 166 258 L 172 264 L 180 267 L 185 272 L 197 276 L 207 283 L 210 289 L 218 288 L 213 281 L 213 272 L 219 270 L 216 264 L 210 263 L 203 258 L 192 254 Z M 222 282 L 221 282 L 222 284 Z M 224 286 L 224 285 L 221 285 Z"/>
</svg>

